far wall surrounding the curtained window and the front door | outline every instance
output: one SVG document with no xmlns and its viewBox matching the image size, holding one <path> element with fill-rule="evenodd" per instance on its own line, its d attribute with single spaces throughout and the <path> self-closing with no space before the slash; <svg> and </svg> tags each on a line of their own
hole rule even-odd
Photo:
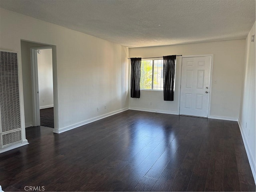
<svg viewBox="0 0 256 192">
<path fill-rule="evenodd" d="M 245 40 L 129 48 L 129 57 L 214 54 L 210 117 L 238 120 L 244 70 Z M 178 113 L 180 57 L 176 61 L 174 101 L 164 101 L 162 91 L 141 90 L 139 99 L 130 98 L 129 107 L 170 114 Z M 152 106 L 150 106 L 152 102 Z"/>
</svg>

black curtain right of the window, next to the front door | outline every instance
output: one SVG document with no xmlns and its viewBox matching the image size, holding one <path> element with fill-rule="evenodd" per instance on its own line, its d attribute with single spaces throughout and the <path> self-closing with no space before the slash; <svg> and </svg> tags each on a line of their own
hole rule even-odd
<svg viewBox="0 0 256 192">
<path fill-rule="evenodd" d="M 163 58 L 164 100 L 173 101 L 176 55 L 163 56 Z"/>
</svg>

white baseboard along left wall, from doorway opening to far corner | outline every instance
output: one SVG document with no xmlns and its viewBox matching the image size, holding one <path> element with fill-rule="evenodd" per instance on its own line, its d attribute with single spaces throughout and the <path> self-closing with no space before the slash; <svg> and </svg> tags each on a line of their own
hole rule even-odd
<svg viewBox="0 0 256 192">
<path fill-rule="evenodd" d="M 77 127 L 80 127 L 82 125 L 85 125 L 85 124 L 88 124 L 88 123 L 91 123 L 91 122 L 94 122 L 94 121 L 97 121 L 97 120 L 100 120 L 100 119 L 103 119 L 105 117 L 108 117 L 108 116 L 112 116 L 114 114 L 118 114 L 120 112 L 124 112 L 126 110 L 128 110 L 129 108 L 123 108 L 123 109 L 120 109 L 120 110 L 117 110 L 117 111 L 114 111 L 114 112 L 110 112 L 110 113 L 107 113 L 107 114 L 104 114 L 104 115 L 101 115 L 101 116 L 98 116 L 98 117 L 94 117 L 94 118 L 91 118 L 91 119 L 88 119 L 86 121 L 83 121 L 83 122 L 80 122 L 80 123 L 76 123 L 76 124 L 73 124 L 73 125 L 70 125 L 70 126 L 67 126 L 67 127 L 64 127 L 64 128 L 60 128 L 60 129 L 53 129 L 53 132 L 54 133 L 63 133 L 65 131 L 68 131 L 68 130 L 71 130 L 71 129 L 74 129 L 74 128 L 77 128 Z"/>
</svg>

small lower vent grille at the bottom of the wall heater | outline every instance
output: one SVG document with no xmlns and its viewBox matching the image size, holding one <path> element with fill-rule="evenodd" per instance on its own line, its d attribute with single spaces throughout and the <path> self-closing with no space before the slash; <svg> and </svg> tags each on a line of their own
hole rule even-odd
<svg viewBox="0 0 256 192">
<path fill-rule="evenodd" d="M 2 148 L 8 147 L 16 143 L 20 143 L 22 141 L 21 130 L 1 134 L 1 141 Z"/>
</svg>

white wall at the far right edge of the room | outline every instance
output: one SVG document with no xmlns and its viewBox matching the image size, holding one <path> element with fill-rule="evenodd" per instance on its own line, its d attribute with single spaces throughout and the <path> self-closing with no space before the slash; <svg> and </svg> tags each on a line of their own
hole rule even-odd
<svg viewBox="0 0 256 192">
<path fill-rule="evenodd" d="M 256 114 L 255 114 L 255 73 L 256 73 L 256 36 L 255 23 L 246 38 L 246 58 L 244 66 L 244 83 L 239 115 L 239 126 L 243 136 L 244 145 L 256 182 Z M 251 36 L 254 35 L 254 42 Z"/>
</svg>

